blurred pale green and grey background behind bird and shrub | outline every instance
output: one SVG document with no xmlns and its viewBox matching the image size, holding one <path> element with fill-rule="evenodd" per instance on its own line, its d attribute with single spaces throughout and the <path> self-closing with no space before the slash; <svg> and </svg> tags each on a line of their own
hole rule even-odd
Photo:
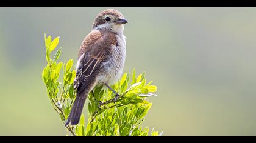
<svg viewBox="0 0 256 143">
<path fill-rule="evenodd" d="M 60 36 L 60 60 L 76 61 L 105 9 L 0 8 L 0 135 L 66 135 L 41 78 L 44 33 Z M 256 135 L 255 8 L 115 9 L 129 21 L 124 71 L 146 71 L 158 86 L 144 126 Z"/>
</svg>

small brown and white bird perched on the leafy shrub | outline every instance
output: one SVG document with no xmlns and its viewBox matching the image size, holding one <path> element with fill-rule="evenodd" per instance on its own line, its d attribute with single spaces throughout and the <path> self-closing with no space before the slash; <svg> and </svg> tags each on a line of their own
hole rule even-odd
<svg viewBox="0 0 256 143">
<path fill-rule="evenodd" d="M 128 21 L 118 10 L 107 9 L 96 16 L 91 32 L 80 45 L 74 90 L 76 99 L 71 107 L 65 126 L 77 125 L 88 94 L 100 85 L 111 88 L 123 73 L 126 58 L 124 24 Z"/>
</svg>

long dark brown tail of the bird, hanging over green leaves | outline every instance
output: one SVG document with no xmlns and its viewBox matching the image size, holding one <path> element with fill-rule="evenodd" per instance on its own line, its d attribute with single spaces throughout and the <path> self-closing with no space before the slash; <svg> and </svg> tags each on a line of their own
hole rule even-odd
<svg viewBox="0 0 256 143">
<path fill-rule="evenodd" d="M 84 108 L 85 99 L 87 98 L 87 95 L 88 95 L 87 90 L 84 90 L 81 93 L 77 94 L 73 107 L 71 108 L 71 112 L 68 116 L 68 119 L 66 120 L 65 126 L 69 124 L 71 125 L 78 124 L 80 117 L 82 115 L 82 110 Z"/>
</svg>

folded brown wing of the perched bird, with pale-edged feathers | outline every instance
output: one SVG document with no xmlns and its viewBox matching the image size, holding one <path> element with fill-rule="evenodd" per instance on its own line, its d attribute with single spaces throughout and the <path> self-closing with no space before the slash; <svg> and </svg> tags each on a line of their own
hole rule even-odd
<svg viewBox="0 0 256 143">
<path fill-rule="evenodd" d="M 100 32 L 90 33 L 85 38 L 80 48 L 76 78 L 74 80 L 74 88 L 77 90 L 77 95 L 95 81 L 101 70 L 102 62 L 108 55 L 107 47 L 110 45 L 110 41 L 105 41 Z"/>
</svg>

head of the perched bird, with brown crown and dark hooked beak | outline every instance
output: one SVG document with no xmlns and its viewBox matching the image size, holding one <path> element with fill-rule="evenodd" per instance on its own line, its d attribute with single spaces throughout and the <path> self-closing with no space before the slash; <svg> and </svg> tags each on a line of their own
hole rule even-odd
<svg viewBox="0 0 256 143">
<path fill-rule="evenodd" d="M 99 13 L 93 23 L 93 29 L 112 30 L 116 33 L 123 33 L 127 20 L 118 10 L 108 9 Z"/>
</svg>

